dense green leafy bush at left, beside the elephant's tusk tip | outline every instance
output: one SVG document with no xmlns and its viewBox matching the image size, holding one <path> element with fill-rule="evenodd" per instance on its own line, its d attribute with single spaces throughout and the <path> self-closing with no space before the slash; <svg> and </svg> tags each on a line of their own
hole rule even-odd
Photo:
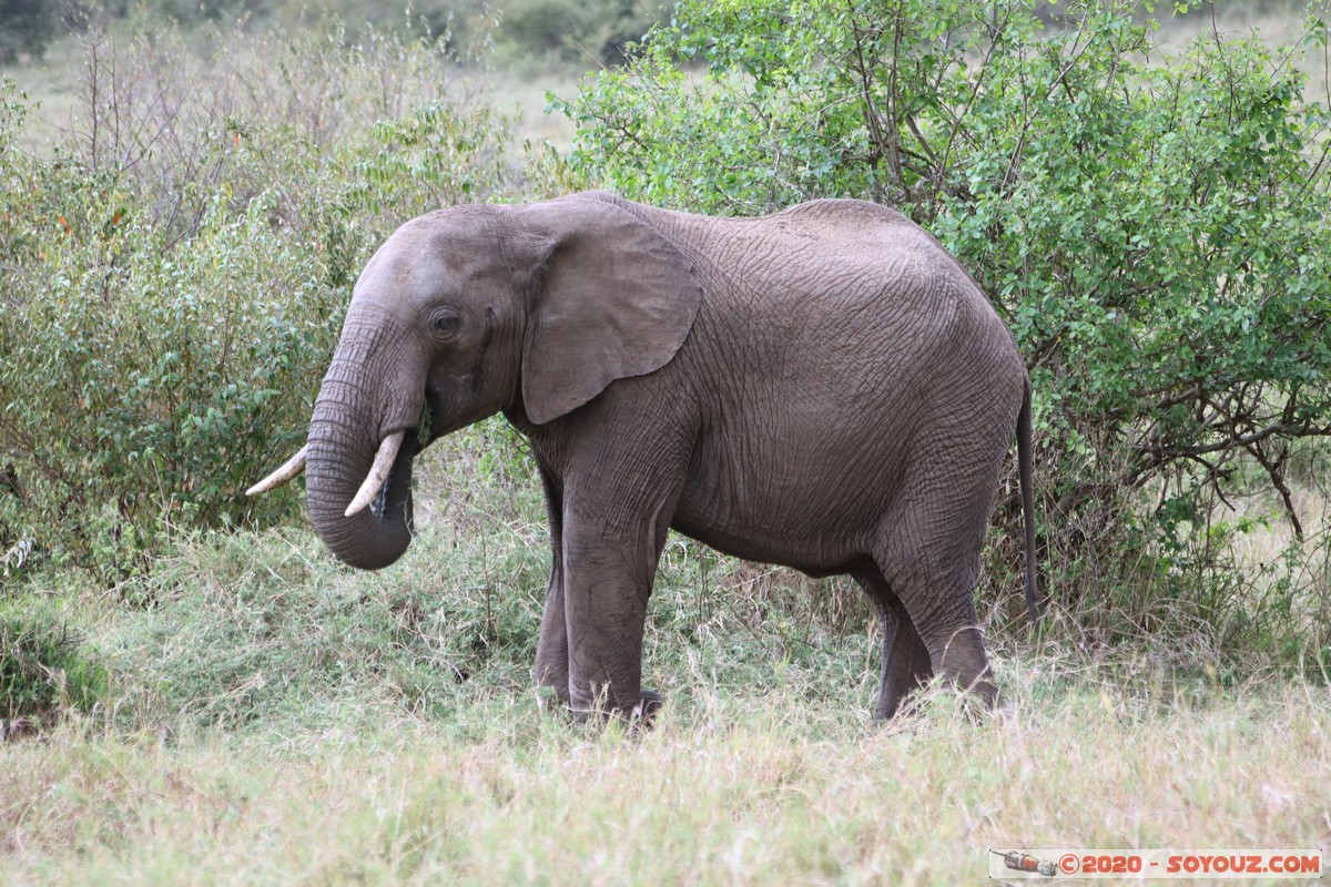
<svg viewBox="0 0 1331 887">
<path fill-rule="evenodd" d="M 345 298 L 261 201 L 240 217 L 218 203 L 172 247 L 160 230 L 113 225 L 85 185 L 37 185 L 68 214 L 0 318 L 0 434 L 19 484 L 0 521 L 116 581 L 170 525 L 290 507 L 241 492 L 299 447 Z"/>
</svg>

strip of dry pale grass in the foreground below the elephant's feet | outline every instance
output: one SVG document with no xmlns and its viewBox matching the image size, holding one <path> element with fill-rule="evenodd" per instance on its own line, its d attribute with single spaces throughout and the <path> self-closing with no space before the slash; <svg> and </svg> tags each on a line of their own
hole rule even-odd
<svg viewBox="0 0 1331 887">
<path fill-rule="evenodd" d="M 475 738 L 72 726 L 0 749 L 0 852 L 11 884 L 957 884 L 986 846 L 1331 846 L 1324 689 L 926 707 L 880 730 L 773 692 L 636 739 L 526 701 Z"/>
</svg>

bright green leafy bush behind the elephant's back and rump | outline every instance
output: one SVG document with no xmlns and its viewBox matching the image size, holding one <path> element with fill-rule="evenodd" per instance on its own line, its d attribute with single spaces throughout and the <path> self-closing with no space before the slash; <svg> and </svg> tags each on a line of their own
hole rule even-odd
<svg viewBox="0 0 1331 887">
<path fill-rule="evenodd" d="M 1298 443 L 1331 434 L 1331 116 L 1299 48 L 1165 52 L 1153 27 L 1125 3 L 687 0 L 555 105 L 574 166 L 628 197 L 925 225 L 1030 366 L 1054 598 L 1146 584 L 1201 622 L 1214 600 L 1170 598 L 1233 581 L 1215 497 L 1256 472 L 1302 529 Z M 1324 19 L 1302 44 L 1324 52 Z"/>
</svg>

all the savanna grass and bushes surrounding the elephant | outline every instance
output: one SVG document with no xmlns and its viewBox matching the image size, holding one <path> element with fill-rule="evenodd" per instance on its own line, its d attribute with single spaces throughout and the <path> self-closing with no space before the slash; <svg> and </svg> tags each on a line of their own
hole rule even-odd
<svg viewBox="0 0 1331 887">
<path fill-rule="evenodd" d="M 1327 13 L 0 1 L 4 879 L 952 884 L 986 846 L 1331 846 Z M 554 129 L 516 106 L 547 77 Z M 977 589 L 1001 717 L 934 690 L 873 726 L 849 582 L 681 537 L 663 722 L 543 715 L 544 512 L 499 420 L 425 453 L 383 573 L 298 488 L 244 496 L 398 223 L 590 186 L 874 199 L 972 270 L 1036 390 L 1047 617 L 1014 472 Z"/>
</svg>

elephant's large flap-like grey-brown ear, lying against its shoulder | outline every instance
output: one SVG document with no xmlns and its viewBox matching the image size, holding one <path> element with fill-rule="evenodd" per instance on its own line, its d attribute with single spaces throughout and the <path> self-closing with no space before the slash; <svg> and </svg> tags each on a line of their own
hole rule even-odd
<svg viewBox="0 0 1331 887">
<path fill-rule="evenodd" d="M 531 210 L 548 233 L 523 342 L 522 396 L 542 424 L 615 379 L 660 370 L 684 343 L 701 301 L 684 255 L 610 195 Z"/>
</svg>

